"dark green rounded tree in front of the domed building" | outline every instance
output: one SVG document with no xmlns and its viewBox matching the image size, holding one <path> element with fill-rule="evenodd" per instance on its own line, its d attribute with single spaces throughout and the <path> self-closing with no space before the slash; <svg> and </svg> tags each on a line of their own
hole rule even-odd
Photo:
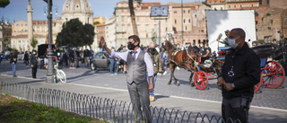
<svg viewBox="0 0 287 123">
<path fill-rule="evenodd" d="M 82 47 L 91 46 L 95 32 L 91 24 L 83 25 L 79 19 L 72 19 L 62 26 L 62 31 L 57 33 L 57 46 Z"/>
</svg>

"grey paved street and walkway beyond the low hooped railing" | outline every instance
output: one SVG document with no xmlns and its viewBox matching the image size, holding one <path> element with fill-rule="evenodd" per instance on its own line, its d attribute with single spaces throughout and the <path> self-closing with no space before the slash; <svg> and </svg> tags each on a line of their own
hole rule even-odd
<svg viewBox="0 0 287 123">
<path fill-rule="evenodd" d="M 11 77 L 12 69 L 10 64 L 0 66 L 0 81 L 6 83 L 27 83 L 35 87 L 52 87 L 68 92 L 81 92 L 83 94 L 115 99 L 117 101 L 129 101 L 126 89 L 126 75 L 110 75 L 109 70 L 100 69 L 91 71 L 81 67 L 70 69 L 63 68 L 67 75 L 67 83 L 45 83 L 47 70 L 38 69 L 38 79 L 31 78 L 30 68 L 26 68 L 22 61 L 19 61 L 16 68 L 17 79 Z M 221 116 L 222 93 L 215 85 L 216 80 L 208 81 L 208 89 L 198 90 L 191 87 L 188 82 L 190 73 L 180 69 L 175 72 L 181 82 L 180 86 L 175 83 L 168 85 L 170 74 L 158 76 L 155 93 L 157 101 L 152 106 L 168 108 L 169 110 L 187 110 L 201 112 L 209 116 Z M 38 85 L 36 83 L 42 83 Z M 43 86 L 47 85 L 47 86 Z M 287 122 L 287 89 L 283 83 L 278 89 L 262 87 L 260 93 L 256 93 L 250 110 L 250 122 Z"/>
</svg>

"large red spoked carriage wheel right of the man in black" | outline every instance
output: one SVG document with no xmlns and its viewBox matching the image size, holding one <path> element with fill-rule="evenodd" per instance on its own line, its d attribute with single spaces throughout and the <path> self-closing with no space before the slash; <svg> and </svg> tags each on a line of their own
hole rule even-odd
<svg viewBox="0 0 287 123">
<path fill-rule="evenodd" d="M 284 82 L 285 72 L 283 66 L 277 62 L 269 61 L 261 68 L 262 82 L 269 88 L 278 88 Z"/>
</svg>

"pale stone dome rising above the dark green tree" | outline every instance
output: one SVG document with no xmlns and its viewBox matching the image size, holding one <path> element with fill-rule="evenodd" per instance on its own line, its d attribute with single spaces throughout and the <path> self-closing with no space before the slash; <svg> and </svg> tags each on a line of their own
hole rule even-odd
<svg viewBox="0 0 287 123">
<path fill-rule="evenodd" d="M 63 22 L 78 18 L 83 24 L 92 25 L 92 17 L 91 4 L 88 0 L 65 0 L 62 11 Z"/>
</svg>

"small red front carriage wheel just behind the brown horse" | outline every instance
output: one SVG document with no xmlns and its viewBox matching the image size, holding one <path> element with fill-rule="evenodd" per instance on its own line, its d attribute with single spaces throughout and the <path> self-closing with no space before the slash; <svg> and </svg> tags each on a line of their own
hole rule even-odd
<svg viewBox="0 0 287 123">
<path fill-rule="evenodd" d="M 203 71 L 196 72 L 195 83 L 198 89 L 204 90 L 208 83 L 207 75 Z"/>
</svg>

